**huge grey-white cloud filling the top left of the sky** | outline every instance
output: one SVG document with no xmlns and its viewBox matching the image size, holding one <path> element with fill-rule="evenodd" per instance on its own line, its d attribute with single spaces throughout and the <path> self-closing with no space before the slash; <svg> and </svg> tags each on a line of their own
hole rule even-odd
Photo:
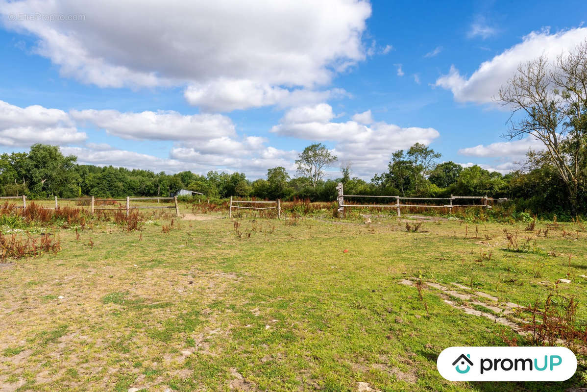
<svg viewBox="0 0 587 392">
<path fill-rule="evenodd" d="M 36 36 L 35 52 L 62 76 L 99 87 L 188 84 L 187 99 L 214 110 L 223 100 L 224 110 L 254 107 L 289 97 L 284 89 L 328 84 L 366 58 L 362 35 L 371 14 L 364 0 L 0 4 L 5 26 Z M 9 21 L 19 13 L 85 17 Z M 235 97 L 251 90 L 251 102 Z M 207 105 L 202 92 L 214 92 L 217 101 Z"/>
</svg>

